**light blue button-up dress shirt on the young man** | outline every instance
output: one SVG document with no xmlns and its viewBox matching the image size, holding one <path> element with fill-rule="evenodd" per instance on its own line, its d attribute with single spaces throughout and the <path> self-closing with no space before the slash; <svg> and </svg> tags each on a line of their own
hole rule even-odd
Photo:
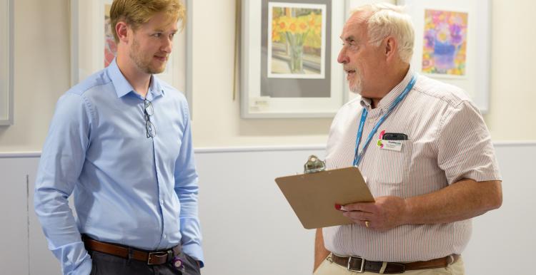
<svg viewBox="0 0 536 275">
<path fill-rule="evenodd" d="M 203 261 L 187 101 L 155 76 L 147 100 L 154 108 L 154 138 L 147 138 L 144 98 L 113 61 L 56 105 L 34 201 L 64 274 L 91 271 L 81 234 L 147 250 L 180 243 Z"/>
</svg>

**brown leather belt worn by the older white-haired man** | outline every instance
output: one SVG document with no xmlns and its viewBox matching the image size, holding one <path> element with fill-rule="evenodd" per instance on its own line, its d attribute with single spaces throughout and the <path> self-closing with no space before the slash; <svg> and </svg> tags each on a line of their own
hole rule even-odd
<svg viewBox="0 0 536 275">
<path fill-rule="evenodd" d="M 384 264 L 383 261 L 367 261 L 359 257 L 341 257 L 334 254 L 330 255 L 331 261 L 339 266 L 346 267 L 349 271 L 354 272 L 375 272 L 379 273 L 382 270 Z M 384 274 L 399 274 L 404 273 L 406 270 L 417 269 L 437 269 L 440 267 L 447 267 L 449 264 L 454 264 L 460 255 L 452 254 L 439 259 L 431 259 L 430 261 L 413 261 L 411 263 L 392 263 L 386 262 Z M 329 257 L 328 257 L 329 259 Z"/>
</svg>

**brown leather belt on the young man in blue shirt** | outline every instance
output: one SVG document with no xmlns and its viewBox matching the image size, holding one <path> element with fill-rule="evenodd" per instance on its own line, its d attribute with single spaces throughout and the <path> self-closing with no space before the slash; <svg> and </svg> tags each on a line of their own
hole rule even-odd
<svg viewBox="0 0 536 275">
<path fill-rule="evenodd" d="M 144 261 L 149 265 L 154 264 L 165 264 L 169 261 L 172 261 L 174 256 L 177 256 L 181 253 L 180 245 L 172 247 L 167 250 L 158 250 L 158 251 L 144 251 L 139 249 L 133 249 L 131 247 L 124 247 L 119 244 L 110 244 L 108 242 L 99 242 L 94 239 L 89 239 L 88 237 L 82 237 L 84 245 L 87 250 L 99 251 L 102 253 L 120 256 L 121 258 L 135 259 L 138 261 Z"/>
</svg>

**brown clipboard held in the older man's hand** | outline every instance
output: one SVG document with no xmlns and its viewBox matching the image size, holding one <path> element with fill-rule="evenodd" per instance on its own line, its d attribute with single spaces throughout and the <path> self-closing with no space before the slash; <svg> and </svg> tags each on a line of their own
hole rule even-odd
<svg viewBox="0 0 536 275">
<path fill-rule="evenodd" d="M 352 224 L 335 204 L 374 202 L 357 167 L 277 177 L 275 182 L 305 229 Z"/>
</svg>

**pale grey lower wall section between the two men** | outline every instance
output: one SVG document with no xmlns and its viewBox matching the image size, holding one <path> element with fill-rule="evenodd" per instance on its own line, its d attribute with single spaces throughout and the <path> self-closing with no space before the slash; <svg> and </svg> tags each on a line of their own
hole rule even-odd
<svg viewBox="0 0 536 275">
<path fill-rule="evenodd" d="M 314 230 L 303 229 L 274 182 L 303 171 L 310 153 L 197 154 L 204 274 L 312 273 Z"/>
</svg>

